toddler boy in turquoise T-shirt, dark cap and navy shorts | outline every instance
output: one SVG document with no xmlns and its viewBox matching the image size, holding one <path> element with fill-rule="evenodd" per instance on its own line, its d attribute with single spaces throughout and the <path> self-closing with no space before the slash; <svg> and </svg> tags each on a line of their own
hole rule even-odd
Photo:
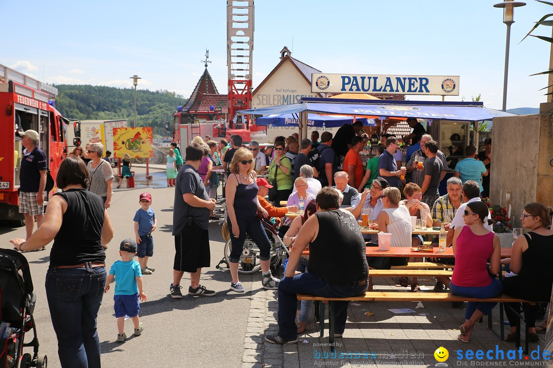
<svg viewBox="0 0 553 368">
<path fill-rule="evenodd" d="M 137 254 L 137 243 L 132 239 L 125 239 L 119 246 L 121 260 L 116 261 L 109 269 L 106 279 L 106 290 L 115 278 L 115 295 L 113 296 L 115 317 L 117 318 L 117 342 L 122 343 L 127 338 L 124 332 L 125 316 L 132 318 L 134 334 L 140 336 L 144 326 L 138 321 L 140 304 L 138 299 L 145 301 L 146 295 L 142 288 L 142 272 L 140 264 L 133 260 Z"/>
</svg>

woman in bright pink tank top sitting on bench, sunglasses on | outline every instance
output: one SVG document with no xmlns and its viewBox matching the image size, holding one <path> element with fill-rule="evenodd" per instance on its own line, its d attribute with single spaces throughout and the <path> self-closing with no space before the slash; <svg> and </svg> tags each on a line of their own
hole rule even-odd
<svg viewBox="0 0 553 368">
<path fill-rule="evenodd" d="M 501 245 L 499 238 L 484 228 L 484 221 L 493 222 L 487 216 L 488 207 L 484 202 L 471 202 L 463 215 L 465 226 L 455 228 L 455 269 L 450 282 L 452 294 L 486 299 L 499 296 L 503 291 L 503 285 L 495 279 L 495 275 L 500 271 Z M 468 302 L 465 323 L 459 326 L 461 334 L 457 338 L 463 343 L 468 343 L 474 324 L 486 316 L 496 304 Z"/>
</svg>

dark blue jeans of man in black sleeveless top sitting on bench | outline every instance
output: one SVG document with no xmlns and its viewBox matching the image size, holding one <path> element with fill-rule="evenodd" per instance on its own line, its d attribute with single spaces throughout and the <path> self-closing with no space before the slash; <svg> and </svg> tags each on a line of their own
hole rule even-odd
<svg viewBox="0 0 553 368">
<path fill-rule="evenodd" d="M 367 291 L 367 284 L 361 286 L 333 285 L 313 273 L 303 273 L 293 278 L 280 279 L 278 285 L 278 335 L 286 341 L 298 337 L 296 318 L 297 294 L 343 298 L 361 295 Z M 346 328 L 348 301 L 335 302 L 335 333 Z"/>
</svg>

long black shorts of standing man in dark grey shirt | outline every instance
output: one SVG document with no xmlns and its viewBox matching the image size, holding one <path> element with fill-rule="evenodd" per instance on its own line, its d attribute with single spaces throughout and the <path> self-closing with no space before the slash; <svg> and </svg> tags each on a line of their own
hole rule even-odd
<svg viewBox="0 0 553 368">
<path fill-rule="evenodd" d="M 182 232 L 175 236 L 173 269 L 193 273 L 199 268 L 209 267 L 210 260 L 209 232 L 194 221 L 190 226 L 185 224 Z"/>
</svg>

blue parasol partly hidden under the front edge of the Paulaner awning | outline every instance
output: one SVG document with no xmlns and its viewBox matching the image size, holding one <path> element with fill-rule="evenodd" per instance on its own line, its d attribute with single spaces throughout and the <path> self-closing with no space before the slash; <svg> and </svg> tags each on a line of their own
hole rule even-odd
<svg viewBox="0 0 553 368">
<path fill-rule="evenodd" d="M 365 126 L 375 126 L 374 119 L 357 118 L 363 122 Z M 340 127 L 344 124 L 353 124 L 353 116 L 342 115 L 317 115 L 307 114 L 307 126 L 310 127 Z M 272 125 L 272 126 L 298 126 L 298 114 L 271 114 L 255 119 L 257 125 Z"/>
</svg>

